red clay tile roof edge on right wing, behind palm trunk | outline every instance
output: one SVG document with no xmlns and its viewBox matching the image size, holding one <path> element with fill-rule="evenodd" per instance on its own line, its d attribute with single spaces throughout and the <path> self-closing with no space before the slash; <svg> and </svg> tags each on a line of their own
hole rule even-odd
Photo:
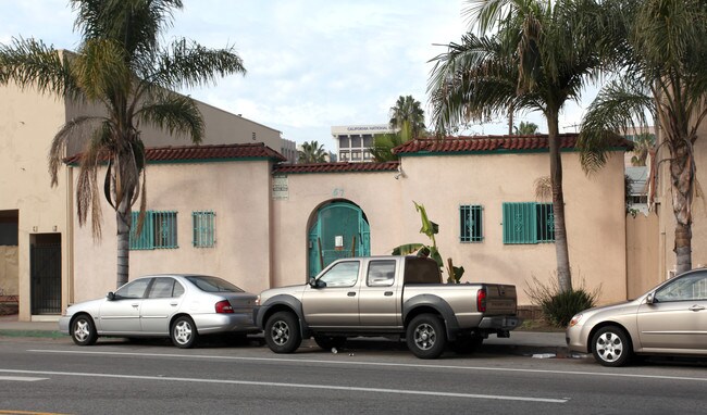
<svg viewBox="0 0 707 415">
<path fill-rule="evenodd" d="M 560 134 L 560 149 L 576 147 L 578 134 Z M 631 142 L 616 136 L 612 147 L 632 147 Z M 446 138 L 418 138 L 393 149 L 395 154 L 414 153 L 469 153 L 489 151 L 533 151 L 548 148 L 547 135 L 533 136 L 460 136 Z"/>
</svg>

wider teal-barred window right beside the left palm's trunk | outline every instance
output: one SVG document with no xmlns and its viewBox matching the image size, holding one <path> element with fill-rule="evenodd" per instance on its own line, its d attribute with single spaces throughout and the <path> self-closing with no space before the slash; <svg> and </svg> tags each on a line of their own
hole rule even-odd
<svg viewBox="0 0 707 415">
<path fill-rule="evenodd" d="M 138 212 L 133 212 L 131 249 L 175 249 L 177 246 L 177 213 L 174 211 L 147 211 L 140 234 L 137 234 Z"/>
</svg>

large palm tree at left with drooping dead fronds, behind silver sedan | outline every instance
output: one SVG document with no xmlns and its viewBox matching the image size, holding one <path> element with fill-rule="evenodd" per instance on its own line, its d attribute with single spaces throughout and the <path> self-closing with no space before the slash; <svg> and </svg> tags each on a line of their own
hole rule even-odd
<svg viewBox="0 0 707 415">
<path fill-rule="evenodd" d="M 194 41 L 160 40 L 172 25 L 181 0 L 71 0 L 82 33 L 77 53 L 60 53 L 40 40 L 15 38 L 0 45 L 0 81 L 100 105 L 102 115 L 70 120 L 54 136 L 49 153 L 51 184 L 70 143 L 83 146 L 76 185 L 79 225 L 91 216 L 101 237 L 98 173 L 117 222 L 117 276 L 128 279 L 133 204 L 140 200 L 137 228 L 145 215 L 145 148 L 140 125 L 151 125 L 198 143 L 203 120 L 196 102 L 172 90 L 214 83 L 216 77 L 245 74 L 233 48 L 207 49 Z"/>
</svg>

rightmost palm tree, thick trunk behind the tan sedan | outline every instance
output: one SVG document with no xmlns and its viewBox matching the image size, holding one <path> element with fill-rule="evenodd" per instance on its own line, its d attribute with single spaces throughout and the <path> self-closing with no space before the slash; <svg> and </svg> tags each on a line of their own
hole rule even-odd
<svg viewBox="0 0 707 415">
<path fill-rule="evenodd" d="M 658 121 L 667 148 L 675 217 L 677 273 L 692 268 L 692 204 L 695 194 L 694 146 L 707 116 L 707 7 L 700 0 L 620 1 L 610 36 L 621 39 L 613 55 L 621 68 L 582 121 L 583 164 L 606 162 L 607 131 Z"/>
</svg>

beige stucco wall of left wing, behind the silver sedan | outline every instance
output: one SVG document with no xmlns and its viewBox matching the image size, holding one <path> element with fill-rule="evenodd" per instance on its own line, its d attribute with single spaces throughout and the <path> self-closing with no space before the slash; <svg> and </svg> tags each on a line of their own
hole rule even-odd
<svg viewBox="0 0 707 415">
<path fill-rule="evenodd" d="M 260 292 L 270 275 L 268 161 L 153 164 L 147 167 L 147 209 L 177 211 L 177 249 L 132 250 L 129 278 L 154 273 L 216 275 Z M 101 198 L 102 199 L 102 198 Z M 103 205 L 103 238 L 76 226 L 75 299 L 115 289 L 115 214 Z M 215 212 L 214 248 L 194 248 L 193 211 Z"/>
</svg>

